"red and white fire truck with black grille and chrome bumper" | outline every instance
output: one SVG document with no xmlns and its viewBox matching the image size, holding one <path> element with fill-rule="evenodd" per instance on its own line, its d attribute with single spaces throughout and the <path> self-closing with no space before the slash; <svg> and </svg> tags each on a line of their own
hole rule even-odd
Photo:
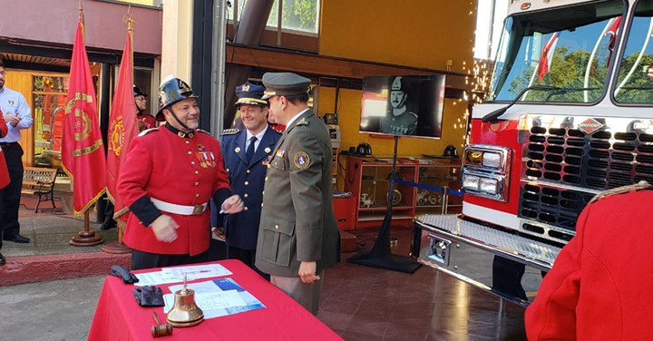
<svg viewBox="0 0 653 341">
<path fill-rule="evenodd" d="M 512 0 L 462 214 L 415 217 L 412 257 L 527 307 L 594 196 L 653 183 L 652 35 L 653 0 Z"/>
</svg>

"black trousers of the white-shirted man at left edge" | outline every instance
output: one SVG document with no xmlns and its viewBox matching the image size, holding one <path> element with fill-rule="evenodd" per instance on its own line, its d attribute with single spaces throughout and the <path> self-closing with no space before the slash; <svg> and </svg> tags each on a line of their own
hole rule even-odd
<svg viewBox="0 0 653 341">
<path fill-rule="evenodd" d="M 14 239 L 20 233 L 18 207 L 23 187 L 23 148 L 18 142 L 0 142 L 11 182 L 0 190 L 0 248 L 2 239 Z"/>
</svg>

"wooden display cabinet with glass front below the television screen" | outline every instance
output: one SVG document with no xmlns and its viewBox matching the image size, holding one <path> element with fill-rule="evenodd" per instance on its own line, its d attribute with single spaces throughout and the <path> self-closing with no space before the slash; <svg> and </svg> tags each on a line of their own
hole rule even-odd
<svg viewBox="0 0 653 341">
<path fill-rule="evenodd" d="M 455 171 L 452 171 L 454 169 Z M 395 179 L 432 186 L 446 185 L 457 189 L 460 160 L 453 160 L 453 163 L 439 163 L 400 158 L 397 159 L 396 172 L 399 177 Z M 376 228 L 383 223 L 387 211 L 391 173 L 392 159 L 347 157 L 345 190 L 358 198 L 354 229 Z M 422 199 L 422 205 L 419 206 L 417 205 L 418 190 Z M 437 198 L 441 198 L 441 195 L 433 190 L 423 191 L 411 185 L 395 182 L 393 226 L 411 227 L 416 213 L 440 213 L 442 199 L 438 202 Z M 450 197 L 450 207 L 462 204 L 462 198 L 460 200 L 458 198 Z"/>
</svg>

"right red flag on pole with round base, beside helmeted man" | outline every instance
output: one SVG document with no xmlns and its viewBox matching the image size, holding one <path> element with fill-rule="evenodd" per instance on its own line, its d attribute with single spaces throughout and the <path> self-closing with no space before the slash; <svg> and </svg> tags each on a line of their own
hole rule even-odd
<svg viewBox="0 0 653 341">
<path fill-rule="evenodd" d="M 109 114 L 109 143 L 107 154 L 107 197 L 113 203 L 113 219 L 118 224 L 118 241 L 102 246 L 107 253 L 128 253 L 132 248 L 122 244 L 122 234 L 129 218 L 129 208 L 125 207 L 117 195 L 116 185 L 122 164 L 127 158 L 130 142 L 138 135 L 136 104 L 133 96 L 133 28 L 132 6 L 124 17 L 127 24 L 127 41 L 122 52 L 120 74 L 113 92 L 111 113 Z"/>
</svg>

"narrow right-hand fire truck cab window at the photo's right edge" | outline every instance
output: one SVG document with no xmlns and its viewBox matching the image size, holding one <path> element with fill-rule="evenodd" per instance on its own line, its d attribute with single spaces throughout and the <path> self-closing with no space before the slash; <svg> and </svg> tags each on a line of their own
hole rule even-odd
<svg viewBox="0 0 653 341">
<path fill-rule="evenodd" d="M 622 103 L 653 103 L 653 0 L 640 0 L 621 55 L 614 98 Z"/>
</svg>

